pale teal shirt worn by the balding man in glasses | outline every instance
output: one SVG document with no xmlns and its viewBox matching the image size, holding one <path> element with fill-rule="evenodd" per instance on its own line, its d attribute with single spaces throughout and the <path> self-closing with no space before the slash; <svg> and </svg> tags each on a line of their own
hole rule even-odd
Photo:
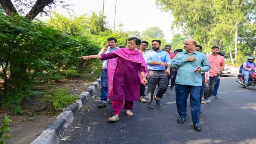
<svg viewBox="0 0 256 144">
<path fill-rule="evenodd" d="M 187 61 L 188 57 L 195 57 L 193 62 Z M 178 67 L 175 83 L 180 85 L 202 86 L 200 72 L 195 72 L 197 66 L 201 67 L 200 72 L 210 70 L 210 63 L 205 54 L 195 51 L 189 55 L 186 51 L 178 53 L 171 61 L 171 67 Z"/>
</svg>

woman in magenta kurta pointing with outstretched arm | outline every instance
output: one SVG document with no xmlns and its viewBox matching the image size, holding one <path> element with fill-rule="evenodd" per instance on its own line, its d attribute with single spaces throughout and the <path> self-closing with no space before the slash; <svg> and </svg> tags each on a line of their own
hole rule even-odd
<svg viewBox="0 0 256 144">
<path fill-rule="evenodd" d="M 112 53 L 83 56 L 88 60 L 90 58 L 100 58 L 108 60 L 108 91 L 109 98 L 112 99 L 112 108 L 114 116 L 109 121 L 119 120 L 119 114 L 125 100 L 125 113 L 132 116 L 131 112 L 133 101 L 140 100 L 140 83 L 147 82 L 145 76 L 147 66 L 142 54 L 136 50 L 141 41 L 138 38 L 130 38 L 128 48 L 120 48 Z"/>
</svg>

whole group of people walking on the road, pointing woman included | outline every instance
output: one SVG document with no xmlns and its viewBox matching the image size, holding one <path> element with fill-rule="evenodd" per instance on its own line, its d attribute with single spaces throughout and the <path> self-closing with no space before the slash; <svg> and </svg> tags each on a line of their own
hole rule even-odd
<svg viewBox="0 0 256 144">
<path fill-rule="evenodd" d="M 98 55 L 82 56 L 85 60 L 99 58 L 103 60 L 101 73 L 101 103 L 105 107 L 108 99 L 112 104 L 114 116 L 109 121 L 119 120 L 124 104 L 124 112 L 132 116 L 134 100 L 147 102 L 147 107 L 154 109 L 153 99 L 161 106 L 167 88 L 175 87 L 176 106 L 180 115 L 177 122 L 182 124 L 187 116 L 187 98 L 190 96 L 191 116 L 195 130 L 200 131 L 200 105 L 211 102 L 217 97 L 219 75 L 225 62 L 219 47 L 213 46 L 212 54 L 202 53 L 202 46 L 193 39 L 183 43 L 184 51 L 171 46 L 160 49 L 161 41 L 151 42 L 152 50 L 148 50 L 148 42 L 138 38 L 130 38 L 127 48 L 119 48 L 116 38 L 109 38 L 108 43 Z M 145 86 L 147 85 L 147 100 Z M 157 89 L 156 89 L 157 87 Z M 154 95 L 157 90 L 156 95 Z M 203 100 L 202 97 L 204 96 Z"/>
</svg>

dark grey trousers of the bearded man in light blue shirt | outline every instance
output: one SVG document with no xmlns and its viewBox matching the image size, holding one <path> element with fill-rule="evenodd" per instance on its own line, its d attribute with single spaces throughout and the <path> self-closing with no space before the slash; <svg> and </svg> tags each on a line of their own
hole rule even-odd
<svg viewBox="0 0 256 144">
<path fill-rule="evenodd" d="M 152 103 L 154 92 L 156 89 L 156 85 L 158 85 L 159 90 L 156 94 L 158 98 L 163 97 L 163 93 L 165 93 L 167 87 L 168 87 L 168 77 L 166 72 L 157 72 L 157 71 L 152 71 L 148 70 L 147 74 L 147 93 L 148 93 L 148 103 Z"/>
</svg>

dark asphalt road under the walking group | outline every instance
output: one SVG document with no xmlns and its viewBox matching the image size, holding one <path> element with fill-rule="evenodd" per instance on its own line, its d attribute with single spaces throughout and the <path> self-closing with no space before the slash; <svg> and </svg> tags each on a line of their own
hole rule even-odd
<svg viewBox="0 0 256 144">
<path fill-rule="evenodd" d="M 133 116 L 123 111 L 119 121 L 109 123 L 112 107 L 98 109 L 99 91 L 75 114 L 66 141 L 61 144 L 240 144 L 256 143 L 256 87 L 241 88 L 237 73 L 221 77 L 217 99 L 201 105 L 201 131 L 193 128 L 189 98 L 185 123 L 177 123 L 175 89 L 162 98 L 162 106 L 149 109 L 146 103 L 134 102 Z M 146 93 L 146 92 L 145 92 Z M 88 129 L 89 128 L 89 129 Z"/>
</svg>

